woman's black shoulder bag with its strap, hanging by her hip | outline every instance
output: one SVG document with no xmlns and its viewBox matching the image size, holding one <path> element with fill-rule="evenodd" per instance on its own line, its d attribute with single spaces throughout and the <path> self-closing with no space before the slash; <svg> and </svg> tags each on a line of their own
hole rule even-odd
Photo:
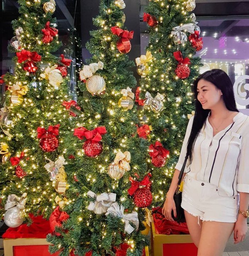
<svg viewBox="0 0 249 256">
<path fill-rule="evenodd" d="M 188 160 L 188 155 L 186 155 L 186 157 L 185 157 L 182 169 L 181 169 L 180 174 L 178 176 L 179 180 L 178 180 L 178 183 L 177 183 L 176 192 L 175 192 L 174 197 L 173 197 L 174 201 L 175 201 L 175 204 L 176 204 L 176 215 L 177 216 L 176 217 L 174 216 L 173 210 L 172 210 L 171 216 L 177 222 L 186 222 L 185 215 L 184 215 L 184 210 L 181 207 L 182 192 L 179 191 L 179 188 L 180 188 L 180 185 L 181 185 L 182 176 L 183 176 L 183 172 L 184 172 L 187 160 Z"/>
</svg>

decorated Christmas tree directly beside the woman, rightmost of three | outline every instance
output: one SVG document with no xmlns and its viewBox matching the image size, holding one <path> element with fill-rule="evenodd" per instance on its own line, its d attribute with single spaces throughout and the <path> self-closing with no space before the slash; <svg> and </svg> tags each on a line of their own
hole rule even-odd
<svg viewBox="0 0 249 256">
<path fill-rule="evenodd" d="M 191 87 L 199 75 L 203 47 L 194 0 L 152 0 L 144 21 L 150 28 L 146 55 L 136 59 L 142 76 L 136 101 L 142 124 L 151 129 L 148 168 L 153 174 L 153 206 L 165 200 L 181 151 L 188 118 L 194 110 Z M 189 117 L 188 116 L 188 117 Z M 178 166 L 181 170 L 181 167 Z"/>
</svg>

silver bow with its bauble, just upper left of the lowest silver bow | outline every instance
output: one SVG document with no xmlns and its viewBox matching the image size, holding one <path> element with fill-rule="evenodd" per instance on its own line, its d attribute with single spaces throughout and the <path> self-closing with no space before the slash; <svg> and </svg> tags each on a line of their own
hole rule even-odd
<svg viewBox="0 0 249 256">
<path fill-rule="evenodd" d="M 102 193 L 97 196 L 93 191 L 89 190 L 87 195 L 95 198 L 95 202 L 90 202 L 87 209 L 94 211 L 97 215 L 106 213 L 111 204 L 116 201 L 115 193 Z"/>
</svg>

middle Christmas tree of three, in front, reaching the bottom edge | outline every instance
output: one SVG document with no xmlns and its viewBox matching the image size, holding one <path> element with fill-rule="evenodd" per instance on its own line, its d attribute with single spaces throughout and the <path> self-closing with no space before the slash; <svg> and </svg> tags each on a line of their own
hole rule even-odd
<svg viewBox="0 0 249 256">
<path fill-rule="evenodd" d="M 148 245 L 146 207 L 152 202 L 146 158 L 149 143 L 138 132 L 131 88 L 134 66 L 126 53 L 123 0 L 101 0 L 87 49 L 92 54 L 80 71 L 78 97 L 83 112 L 74 127 L 76 154 L 65 170 L 69 204 L 51 214 L 55 234 L 50 252 L 60 255 L 142 255 Z M 82 149 L 83 148 L 83 149 Z"/>
</svg>

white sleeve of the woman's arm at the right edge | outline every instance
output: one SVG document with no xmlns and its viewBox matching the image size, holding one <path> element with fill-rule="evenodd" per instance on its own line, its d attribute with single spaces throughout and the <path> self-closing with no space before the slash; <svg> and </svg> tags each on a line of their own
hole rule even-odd
<svg viewBox="0 0 249 256">
<path fill-rule="evenodd" d="M 249 193 L 249 135 L 242 137 L 238 163 L 237 191 Z"/>
</svg>

